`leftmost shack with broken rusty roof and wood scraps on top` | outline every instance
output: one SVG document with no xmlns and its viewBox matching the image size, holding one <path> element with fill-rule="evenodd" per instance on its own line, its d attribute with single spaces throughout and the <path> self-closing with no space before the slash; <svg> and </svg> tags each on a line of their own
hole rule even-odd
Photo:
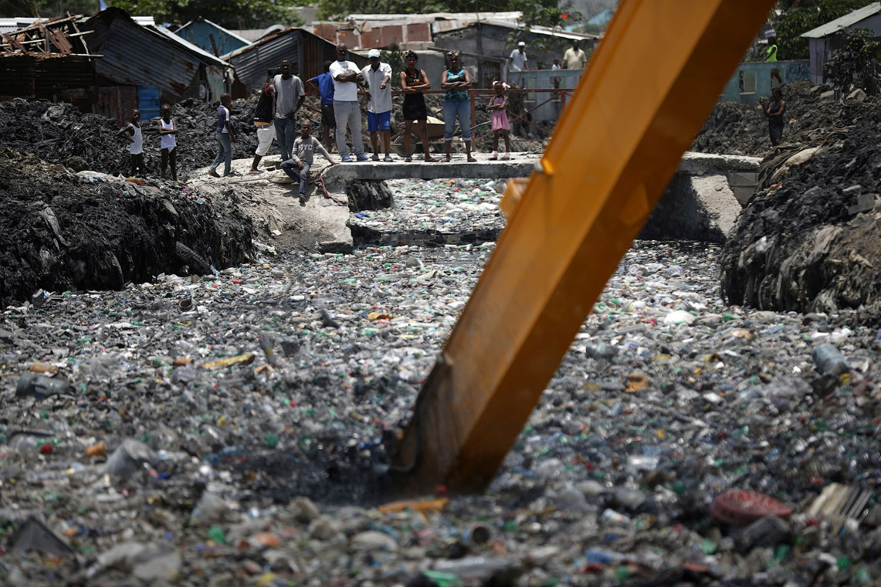
<svg viewBox="0 0 881 587">
<path fill-rule="evenodd" d="M 91 33 L 83 18 L 49 18 L 0 36 L 0 99 L 63 100 L 92 111 L 95 83 Z"/>
</svg>

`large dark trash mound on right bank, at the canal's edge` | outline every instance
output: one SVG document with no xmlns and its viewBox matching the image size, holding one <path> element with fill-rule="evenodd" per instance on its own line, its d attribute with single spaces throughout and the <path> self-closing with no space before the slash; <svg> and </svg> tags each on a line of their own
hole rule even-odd
<svg viewBox="0 0 881 587">
<path fill-rule="evenodd" d="M 865 106 L 865 105 L 861 105 Z M 877 304 L 881 108 L 766 158 L 722 256 L 732 304 L 834 312 Z"/>
</svg>

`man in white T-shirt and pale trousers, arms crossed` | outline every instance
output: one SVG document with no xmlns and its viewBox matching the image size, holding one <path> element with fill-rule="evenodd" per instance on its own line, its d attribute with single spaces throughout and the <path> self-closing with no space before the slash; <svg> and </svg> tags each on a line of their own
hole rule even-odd
<svg viewBox="0 0 881 587">
<path fill-rule="evenodd" d="M 361 138 L 361 108 L 358 105 L 358 84 L 364 83 L 361 70 L 348 61 L 349 47 L 345 43 L 337 45 L 337 61 L 330 63 L 330 77 L 333 77 L 333 114 L 337 119 L 337 150 L 343 163 L 350 163 L 349 145 L 345 143 L 345 127 L 352 130 L 352 148 L 358 161 L 366 161 L 364 140 Z"/>
</svg>

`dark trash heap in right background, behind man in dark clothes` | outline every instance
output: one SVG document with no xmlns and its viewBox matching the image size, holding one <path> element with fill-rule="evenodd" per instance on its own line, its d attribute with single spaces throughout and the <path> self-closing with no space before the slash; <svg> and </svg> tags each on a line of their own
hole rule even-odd
<svg viewBox="0 0 881 587">
<path fill-rule="evenodd" d="M 817 129 L 848 127 L 877 107 L 877 98 L 833 99 L 832 88 L 798 80 L 781 88 L 786 101 L 784 143 L 810 141 Z M 770 99 L 770 97 L 766 97 Z M 691 150 L 764 156 L 772 151 L 765 114 L 759 106 L 719 102 L 695 137 Z"/>
</svg>

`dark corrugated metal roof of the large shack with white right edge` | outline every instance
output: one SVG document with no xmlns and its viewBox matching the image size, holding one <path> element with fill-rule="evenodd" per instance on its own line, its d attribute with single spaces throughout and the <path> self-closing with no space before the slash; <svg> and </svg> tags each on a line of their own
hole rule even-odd
<svg viewBox="0 0 881 587">
<path fill-rule="evenodd" d="M 95 70 L 120 84 L 154 84 L 182 96 L 202 64 L 228 67 L 202 49 L 186 47 L 191 44 L 170 31 L 166 34 L 154 26 L 137 25 L 118 8 L 100 11 L 84 26 L 93 30 L 90 48 L 104 55 Z"/>
</svg>

